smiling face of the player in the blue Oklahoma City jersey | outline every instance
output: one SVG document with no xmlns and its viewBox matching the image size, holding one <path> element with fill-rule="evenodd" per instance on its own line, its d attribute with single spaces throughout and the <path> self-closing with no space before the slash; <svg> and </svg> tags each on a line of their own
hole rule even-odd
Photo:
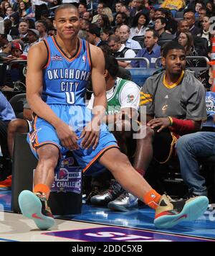
<svg viewBox="0 0 215 256">
<path fill-rule="evenodd" d="M 54 18 L 57 35 L 64 39 L 72 39 L 80 30 L 80 19 L 77 9 L 61 9 Z"/>
</svg>

